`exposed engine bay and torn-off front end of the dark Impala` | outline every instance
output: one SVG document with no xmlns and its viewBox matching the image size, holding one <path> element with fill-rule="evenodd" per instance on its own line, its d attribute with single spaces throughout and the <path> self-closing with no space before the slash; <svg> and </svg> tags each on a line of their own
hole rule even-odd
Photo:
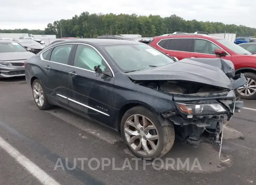
<svg viewBox="0 0 256 185">
<path fill-rule="evenodd" d="M 232 90 L 216 87 L 209 84 L 202 84 L 198 82 L 182 81 L 182 80 L 155 80 L 155 81 L 135 81 L 135 84 L 140 86 L 148 87 L 157 91 L 162 91 L 165 94 L 182 94 L 182 95 L 197 95 L 205 97 L 210 93 L 228 93 Z M 233 92 L 232 92 L 233 93 Z M 235 97 L 235 95 L 234 95 Z M 233 97 L 233 98 L 234 98 Z M 173 99 L 175 102 L 175 99 Z M 204 99 L 189 102 L 176 102 L 177 109 L 169 110 L 162 113 L 162 116 L 175 126 L 175 132 L 180 135 L 182 140 L 190 145 L 199 145 L 201 142 L 210 142 L 215 145 L 220 145 L 222 129 L 225 121 L 229 120 L 234 111 L 238 111 L 242 108 L 243 102 L 236 98 L 238 103 L 236 108 L 234 108 L 234 99 Z M 216 104 L 223 106 L 222 112 L 213 112 L 207 110 L 206 105 Z M 183 105 L 181 107 L 180 105 Z M 193 108 L 193 106 L 194 108 Z M 180 108 L 185 108 L 187 110 L 194 109 L 196 113 L 196 108 L 201 106 L 201 113 L 194 114 L 194 112 L 182 112 Z"/>
</svg>

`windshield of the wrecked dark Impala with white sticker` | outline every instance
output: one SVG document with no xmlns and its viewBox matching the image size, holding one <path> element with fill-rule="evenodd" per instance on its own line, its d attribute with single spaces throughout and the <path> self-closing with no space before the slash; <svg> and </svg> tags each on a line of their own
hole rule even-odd
<svg viewBox="0 0 256 185">
<path fill-rule="evenodd" d="M 103 49 L 124 72 L 171 64 L 173 59 L 146 44 L 108 45 Z"/>
</svg>

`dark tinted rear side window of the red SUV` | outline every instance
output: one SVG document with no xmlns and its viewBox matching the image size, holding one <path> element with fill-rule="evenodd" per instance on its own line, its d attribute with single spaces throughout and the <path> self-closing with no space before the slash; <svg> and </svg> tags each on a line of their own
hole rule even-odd
<svg viewBox="0 0 256 185">
<path fill-rule="evenodd" d="M 192 42 L 192 38 L 172 38 L 161 40 L 159 45 L 166 50 L 191 52 Z"/>
</svg>

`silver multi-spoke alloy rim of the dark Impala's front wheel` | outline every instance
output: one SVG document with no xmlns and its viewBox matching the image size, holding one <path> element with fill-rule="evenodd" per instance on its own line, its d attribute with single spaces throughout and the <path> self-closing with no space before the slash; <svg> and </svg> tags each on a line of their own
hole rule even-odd
<svg viewBox="0 0 256 185">
<path fill-rule="evenodd" d="M 124 124 L 124 134 L 130 148 L 140 155 L 151 156 L 159 148 L 159 133 L 146 116 L 130 116 Z"/>
</svg>

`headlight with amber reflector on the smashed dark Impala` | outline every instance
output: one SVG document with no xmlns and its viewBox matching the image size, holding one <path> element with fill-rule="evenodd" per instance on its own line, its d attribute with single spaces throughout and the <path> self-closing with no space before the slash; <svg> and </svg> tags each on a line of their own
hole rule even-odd
<svg viewBox="0 0 256 185">
<path fill-rule="evenodd" d="M 176 102 L 178 109 L 186 115 L 211 115 L 228 112 L 221 104 L 186 104 Z"/>
</svg>

